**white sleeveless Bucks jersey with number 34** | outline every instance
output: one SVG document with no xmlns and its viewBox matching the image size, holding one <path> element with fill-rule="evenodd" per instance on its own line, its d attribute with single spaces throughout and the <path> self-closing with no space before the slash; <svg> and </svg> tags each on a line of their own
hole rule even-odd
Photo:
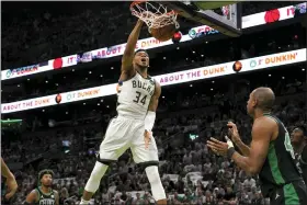
<svg viewBox="0 0 307 205">
<path fill-rule="evenodd" d="M 155 80 L 143 78 L 138 72 L 127 81 L 117 86 L 118 115 L 143 119 L 145 118 L 151 96 L 155 93 Z"/>
</svg>

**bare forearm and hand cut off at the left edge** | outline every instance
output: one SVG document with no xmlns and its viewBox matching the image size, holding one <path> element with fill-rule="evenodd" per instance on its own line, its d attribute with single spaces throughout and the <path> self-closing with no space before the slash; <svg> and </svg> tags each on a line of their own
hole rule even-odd
<svg viewBox="0 0 307 205">
<path fill-rule="evenodd" d="M 7 185 L 9 193 L 5 194 L 5 198 L 11 198 L 18 191 L 18 182 L 14 174 L 10 171 L 4 160 L 1 158 L 1 175 L 7 178 Z"/>
</svg>

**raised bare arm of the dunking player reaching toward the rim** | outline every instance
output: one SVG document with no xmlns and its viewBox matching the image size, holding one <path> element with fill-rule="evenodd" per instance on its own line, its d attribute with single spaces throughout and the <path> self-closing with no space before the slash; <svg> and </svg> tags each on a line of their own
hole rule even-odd
<svg viewBox="0 0 307 205">
<path fill-rule="evenodd" d="M 133 67 L 133 60 L 134 60 L 134 53 L 135 53 L 135 47 L 136 47 L 136 43 L 138 41 L 139 37 L 139 33 L 143 26 L 143 21 L 138 20 L 134 30 L 132 31 L 127 44 L 126 44 L 126 48 L 122 58 L 122 73 L 126 73 L 128 77 L 132 77 L 135 75 L 135 69 Z"/>
</svg>

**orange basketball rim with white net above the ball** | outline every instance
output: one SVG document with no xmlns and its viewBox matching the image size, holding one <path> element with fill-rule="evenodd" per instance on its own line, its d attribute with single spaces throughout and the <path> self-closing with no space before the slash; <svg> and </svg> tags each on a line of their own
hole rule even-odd
<svg viewBox="0 0 307 205">
<path fill-rule="evenodd" d="M 177 12 L 167 7 L 148 1 L 134 1 L 130 4 L 132 14 L 144 21 L 150 29 L 160 29 L 166 25 L 174 24 L 175 29 L 180 25 L 177 21 Z"/>
</svg>

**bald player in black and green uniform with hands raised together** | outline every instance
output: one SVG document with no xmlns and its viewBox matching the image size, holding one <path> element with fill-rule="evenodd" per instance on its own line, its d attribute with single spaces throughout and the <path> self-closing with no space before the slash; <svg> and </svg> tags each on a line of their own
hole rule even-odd
<svg viewBox="0 0 307 205">
<path fill-rule="evenodd" d="M 307 202 L 306 185 L 295 163 L 291 138 L 284 124 L 271 115 L 275 95 L 270 88 L 258 88 L 250 94 L 247 110 L 253 118 L 251 146 L 246 146 L 234 123 L 228 123 L 231 139 L 243 156 L 237 152 L 232 141 L 214 138 L 208 147 L 218 155 L 228 156 L 248 174 L 258 174 L 264 197 L 271 205 L 304 205 Z"/>
</svg>

